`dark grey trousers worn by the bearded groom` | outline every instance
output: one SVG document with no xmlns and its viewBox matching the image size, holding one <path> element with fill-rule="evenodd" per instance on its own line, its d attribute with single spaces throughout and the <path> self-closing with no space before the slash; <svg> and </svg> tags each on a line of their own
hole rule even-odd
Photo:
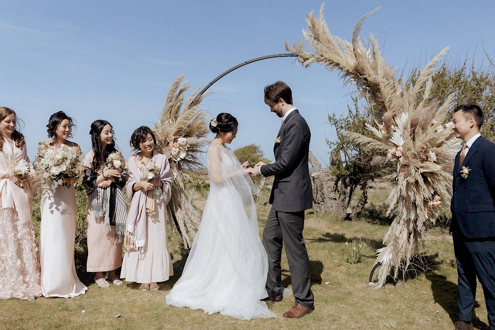
<svg viewBox="0 0 495 330">
<path fill-rule="evenodd" d="M 263 230 L 263 246 L 268 255 L 268 276 L 266 291 L 275 299 L 282 299 L 282 246 L 285 244 L 292 290 L 296 301 L 306 308 L 313 307 L 313 294 L 310 289 L 309 257 L 302 237 L 304 211 L 286 213 L 270 210 Z"/>
</svg>

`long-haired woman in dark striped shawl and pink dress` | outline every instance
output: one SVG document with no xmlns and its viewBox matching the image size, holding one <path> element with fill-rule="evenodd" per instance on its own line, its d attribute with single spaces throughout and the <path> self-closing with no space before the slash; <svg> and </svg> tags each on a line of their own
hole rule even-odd
<svg viewBox="0 0 495 330">
<path fill-rule="evenodd" d="M 87 272 L 95 272 L 99 287 L 109 287 L 103 272 L 114 285 L 122 285 L 115 270 L 122 266 L 122 241 L 127 207 L 122 188 L 126 164 L 115 149 L 113 130 L 106 120 L 95 120 L 90 129 L 93 149 L 83 161 L 83 185 L 88 194 Z"/>
</svg>

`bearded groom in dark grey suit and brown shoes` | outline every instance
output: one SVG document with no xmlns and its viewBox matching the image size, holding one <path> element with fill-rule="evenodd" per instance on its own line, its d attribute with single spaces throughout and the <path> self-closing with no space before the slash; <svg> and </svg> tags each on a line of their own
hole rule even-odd
<svg viewBox="0 0 495 330">
<path fill-rule="evenodd" d="M 265 103 L 271 112 L 283 119 L 273 148 L 275 163 L 260 162 L 251 174 L 275 175 L 270 194 L 272 208 L 263 230 L 263 246 L 268 254 L 266 291 L 270 300 L 281 301 L 283 298 L 280 261 L 285 243 L 296 304 L 284 313 L 284 317 L 300 318 L 314 310 L 309 258 L 302 237 L 304 210 L 313 206 L 308 168 L 311 132 L 292 105 L 292 91 L 286 83 L 277 81 L 266 86 Z"/>
</svg>

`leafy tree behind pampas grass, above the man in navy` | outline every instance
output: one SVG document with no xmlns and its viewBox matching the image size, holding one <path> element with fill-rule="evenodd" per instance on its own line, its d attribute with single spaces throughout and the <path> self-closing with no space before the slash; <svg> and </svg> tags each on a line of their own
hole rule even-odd
<svg viewBox="0 0 495 330">
<path fill-rule="evenodd" d="M 491 63 L 491 59 L 488 58 Z M 408 82 L 414 83 L 419 75 L 416 68 L 411 73 Z M 433 75 L 433 87 L 430 98 L 444 103 L 448 95 L 454 94 L 456 105 L 476 104 L 485 112 L 485 123 L 482 134 L 485 138 L 495 142 L 495 67 L 483 66 L 476 68 L 464 60 L 459 67 L 452 67 L 444 63 Z M 418 100 L 419 102 L 420 100 Z M 448 118 L 446 121 L 450 121 Z"/>
</svg>

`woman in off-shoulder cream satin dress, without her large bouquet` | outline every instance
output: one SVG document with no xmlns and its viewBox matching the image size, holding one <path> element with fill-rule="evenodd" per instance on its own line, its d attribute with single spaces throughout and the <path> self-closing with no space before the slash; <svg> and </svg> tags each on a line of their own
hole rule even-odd
<svg viewBox="0 0 495 330">
<path fill-rule="evenodd" d="M 50 116 L 48 141 L 40 142 L 39 150 L 53 147 L 73 148 L 81 155 L 71 136 L 73 119 L 58 111 Z M 43 187 L 41 197 L 40 265 L 41 289 L 45 297 L 72 298 L 88 289 L 76 274 L 74 240 L 76 235 L 77 178 L 65 177 L 64 184 L 52 189 Z"/>
</svg>

